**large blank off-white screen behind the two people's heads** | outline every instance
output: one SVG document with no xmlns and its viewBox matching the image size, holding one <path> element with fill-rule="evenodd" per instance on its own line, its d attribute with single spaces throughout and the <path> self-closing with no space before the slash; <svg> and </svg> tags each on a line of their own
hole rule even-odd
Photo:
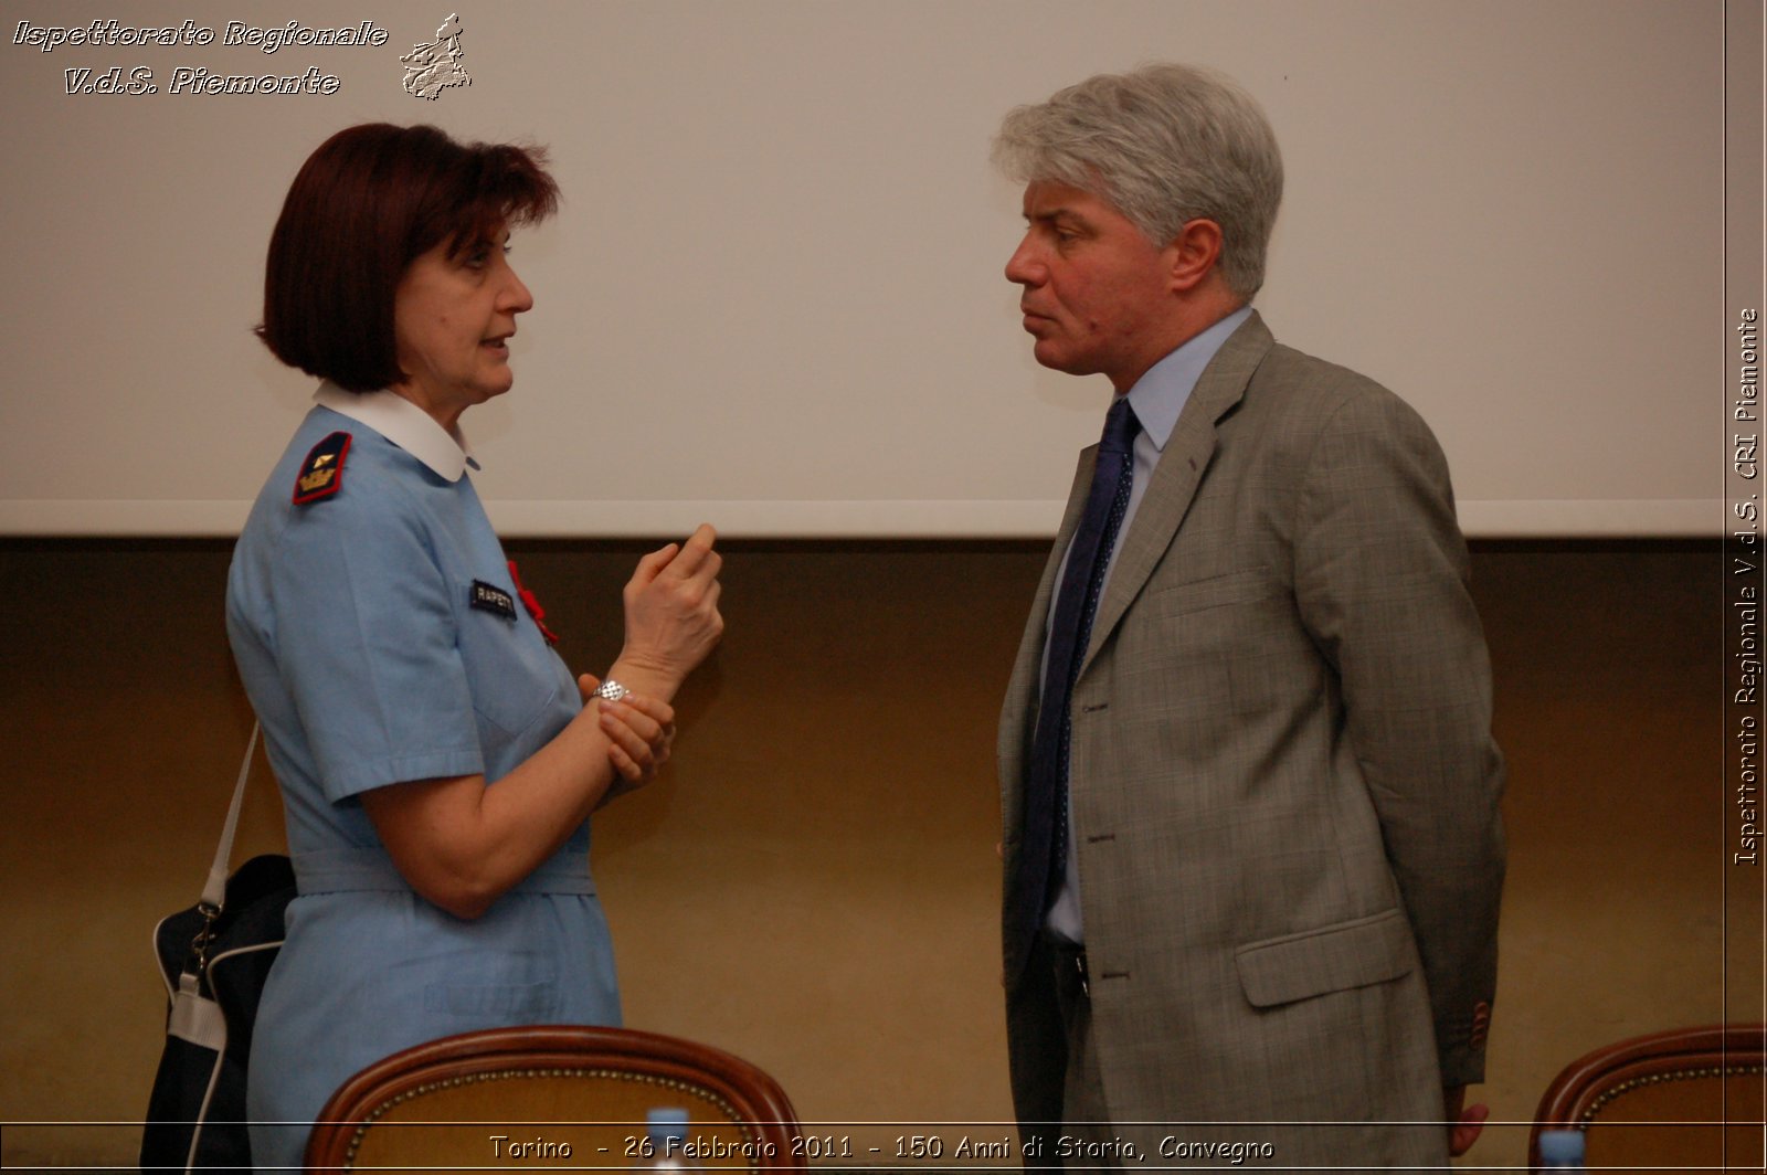
<svg viewBox="0 0 1767 1175">
<path fill-rule="evenodd" d="M 468 419 L 511 535 L 1039 535 L 1108 387 L 1039 369 L 1002 265 L 1012 104 L 1143 60 L 1265 104 L 1288 194 L 1258 304 L 1447 449 L 1468 534 L 1719 534 L 1723 9 L 1622 0 L 459 4 L 470 88 L 399 55 L 445 4 L 7 0 L 0 534 L 224 535 L 311 382 L 251 337 L 332 131 L 546 143 L 516 392 Z M 223 48 L 371 19 L 382 48 Z M 14 44 L 19 21 L 212 27 Z M 152 69 L 159 94 L 65 94 Z M 173 69 L 339 80 L 170 94 Z"/>
</svg>

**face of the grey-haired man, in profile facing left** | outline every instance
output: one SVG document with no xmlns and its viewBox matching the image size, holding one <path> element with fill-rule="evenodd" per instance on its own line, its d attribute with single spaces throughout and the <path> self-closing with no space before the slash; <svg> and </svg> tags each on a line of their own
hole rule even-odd
<svg viewBox="0 0 1767 1175">
<path fill-rule="evenodd" d="M 1106 375 L 1126 390 L 1170 350 L 1170 258 L 1092 193 L 1053 180 L 1025 187 L 1025 239 L 1005 265 L 1044 368 Z"/>
</svg>

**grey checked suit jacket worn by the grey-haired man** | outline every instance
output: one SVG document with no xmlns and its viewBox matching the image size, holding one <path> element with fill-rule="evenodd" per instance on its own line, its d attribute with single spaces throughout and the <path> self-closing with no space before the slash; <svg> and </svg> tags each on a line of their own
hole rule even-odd
<svg viewBox="0 0 1767 1175">
<path fill-rule="evenodd" d="M 1002 714 L 1007 878 L 1092 463 Z M 1161 454 L 1074 687 L 1073 852 L 1115 1122 L 1331 1122 L 1240 1134 L 1290 1163 L 1445 1163 L 1440 1126 L 1378 1124 L 1440 1122 L 1442 1085 L 1483 1080 L 1502 758 L 1467 574 L 1417 413 L 1240 325 Z M 1030 1131 L 1060 1108 L 1053 997 L 1037 974 L 1007 988 Z"/>
</svg>

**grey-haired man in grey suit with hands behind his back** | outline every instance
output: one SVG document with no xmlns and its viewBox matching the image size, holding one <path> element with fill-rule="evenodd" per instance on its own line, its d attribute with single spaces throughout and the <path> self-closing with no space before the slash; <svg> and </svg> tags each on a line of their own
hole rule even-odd
<svg viewBox="0 0 1767 1175">
<path fill-rule="evenodd" d="M 1442 1166 L 1504 876 L 1442 452 L 1251 309 L 1283 170 L 1225 78 L 1092 78 L 995 159 L 1037 362 L 1115 389 L 1000 721 L 1027 1164 Z"/>
</svg>

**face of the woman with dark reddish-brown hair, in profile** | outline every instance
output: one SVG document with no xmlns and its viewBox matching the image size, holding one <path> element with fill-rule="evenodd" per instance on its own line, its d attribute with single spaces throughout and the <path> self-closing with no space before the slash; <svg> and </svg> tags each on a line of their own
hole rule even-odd
<svg viewBox="0 0 1767 1175">
<path fill-rule="evenodd" d="M 516 382 L 509 337 L 516 315 L 534 306 L 509 267 L 507 228 L 452 258 L 449 244 L 412 262 L 392 304 L 396 353 L 408 376 L 398 390 L 444 426 Z"/>
</svg>

